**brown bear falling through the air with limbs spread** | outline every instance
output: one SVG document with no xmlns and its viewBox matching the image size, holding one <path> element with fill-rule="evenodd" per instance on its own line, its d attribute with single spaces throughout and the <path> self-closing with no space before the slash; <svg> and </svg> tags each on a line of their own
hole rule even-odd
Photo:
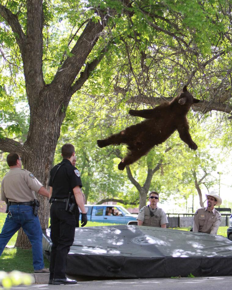
<svg viewBox="0 0 232 290">
<path fill-rule="evenodd" d="M 154 109 L 129 110 L 132 116 L 139 116 L 147 120 L 125 128 L 118 134 L 97 140 L 97 145 L 102 148 L 110 144 L 127 144 L 129 152 L 118 164 L 119 170 L 124 170 L 126 165 L 132 164 L 147 154 L 154 146 L 167 140 L 174 131 L 179 132 L 179 137 L 189 146 L 196 150 L 198 146 L 189 134 L 187 113 L 195 99 L 184 86 L 179 95 L 171 102 L 165 102 Z"/>
</svg>

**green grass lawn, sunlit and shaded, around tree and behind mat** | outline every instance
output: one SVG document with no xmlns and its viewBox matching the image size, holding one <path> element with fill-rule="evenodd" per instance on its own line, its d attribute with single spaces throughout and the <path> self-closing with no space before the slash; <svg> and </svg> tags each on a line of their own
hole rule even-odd
<svg viewBox="0 0 232 290">
<path fill-rule="evenodd" d="M 3 224 L 5 222 L 5 213 L 0 213 L 0 231 L 2 230 Z M 112 224 L 107 223 L 96 223 L 96 222 L 88 222 L 88 227 L 93 226 L 108 226 Z M 176 230 L 189 231 L 190 227 L 184 228 L 174 228 Z M 227 237 L 227 227 L 219 227 L 218 235 L 222 235 Z M 20 270 L 26 273 L 33 273 L 33 265 L 32 265 L 32 252 L 31 249 L 22 250 L 18 248 L 14 248 L 15 242 L 17 238 L 17 233 L 13 235 L 13 237 L 8 242 L 5 250 L 2 253 L 0 258 L 0 271 L 12 271 L 12 270 Z M 49 267 L 49 261 L 44 258 L 45 267 Z"/>
</svg>

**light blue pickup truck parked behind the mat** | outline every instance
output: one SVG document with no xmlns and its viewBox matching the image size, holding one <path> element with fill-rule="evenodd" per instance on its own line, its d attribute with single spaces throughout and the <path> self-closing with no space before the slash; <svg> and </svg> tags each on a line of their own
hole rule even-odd
<svg viewBox="0 0 232 290">
<path fill-rule="evenodd" d="M 137 224 L 137 214 L 131 214 L 123 206 L 85 204 L 89 221 L 112 224 Z"/>
</svg>

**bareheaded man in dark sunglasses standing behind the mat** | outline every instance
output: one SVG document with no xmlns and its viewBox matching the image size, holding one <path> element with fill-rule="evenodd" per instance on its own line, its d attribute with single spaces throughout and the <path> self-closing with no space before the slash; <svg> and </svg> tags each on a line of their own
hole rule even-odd
<svg viewBox="0 0 232 290">
<path fill-rule="evenodd" d="M 158 192 L 152 191 L 149 194 L 150 205 L 143 206 L 137 216 L 138 226 L 163 227 L 166 228 L 168 219 L 163 209 L 157 206 L 159 202 Z"/>
</svg>

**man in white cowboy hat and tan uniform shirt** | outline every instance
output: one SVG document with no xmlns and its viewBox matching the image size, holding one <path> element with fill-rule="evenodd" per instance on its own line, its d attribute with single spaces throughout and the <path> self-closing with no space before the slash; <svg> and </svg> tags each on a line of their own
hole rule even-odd
<svg viewBox="0 0 232 290">
<path fill-rule="evenodd" d="M 214 208 L 222 203 L 216 192 L 206 194 L 207 207 L 198 209 L 194 213 L 193 232 L 216 235 L 221 222 L 221 214 Z"/>
</svg>

